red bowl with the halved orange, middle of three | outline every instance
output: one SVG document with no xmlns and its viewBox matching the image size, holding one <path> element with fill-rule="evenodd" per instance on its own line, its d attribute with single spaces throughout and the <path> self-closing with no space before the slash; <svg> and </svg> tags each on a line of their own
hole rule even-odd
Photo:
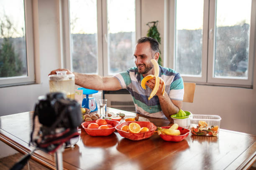
<svg viewBox="0 0 256 170">
<path fill-rule="evenodd" d="M 138 121 L 138 123 L 141 128 L 142 127 L 147 127 L 149 129 L 148 132 L 143 132 L 143 133 L 128 133 L 123 130 L 121 130 L 123 125 L 129 125 L 131 122 L 123 122 L 115 127 L 115 129 L 118 131 L 118 133 L 123 136 L 124 138 L 128 138 L 130 140 L 142 140 L 146 138 L 150 138 L 153 134 L 154 131 L 156 130 L 156 126 L 152 122 L 147 122 L 147 121 Z"/>
</svg>

